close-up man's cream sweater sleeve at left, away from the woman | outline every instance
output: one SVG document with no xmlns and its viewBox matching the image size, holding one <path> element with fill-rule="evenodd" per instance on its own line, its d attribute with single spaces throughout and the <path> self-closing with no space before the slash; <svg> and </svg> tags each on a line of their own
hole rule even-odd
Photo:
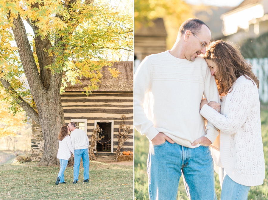
<svg viewBox="0 0 268 200">
<path fill-rule="evenodd" d="M 134 75 L 134 126 L 142 134 L 152 140 L 159 132 L 144 113 L 143 103 L 152 83 L 152 64 L 146 57 Z"/>
</svg>

